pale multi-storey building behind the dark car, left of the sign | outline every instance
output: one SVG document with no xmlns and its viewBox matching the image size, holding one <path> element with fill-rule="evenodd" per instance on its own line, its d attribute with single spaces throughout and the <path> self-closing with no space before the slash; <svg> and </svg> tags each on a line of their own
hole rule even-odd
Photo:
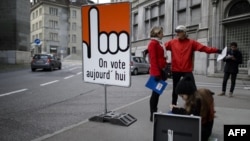
<svg viewBox="0 0 250 141">
<path fill-rule="evenodd" d="M 31 4 L 31 47 L 34 53 L 82 56 L 81 6 L 86 0 L 34 0 Z M 40 44 L 34 43 L 39 39 Z"/>
</svg>

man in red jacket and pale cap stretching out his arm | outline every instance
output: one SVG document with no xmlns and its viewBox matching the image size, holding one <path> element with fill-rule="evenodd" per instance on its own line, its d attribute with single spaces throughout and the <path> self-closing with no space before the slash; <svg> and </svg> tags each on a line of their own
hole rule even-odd
<svg viewBox="0 0 250 141">
<path fill-rule="evenodd" d="M 176 27 L 175 32 L 177 38 L 172 39 L 165 43 L 165 48 L 171 51 L 172 57 L 172 79 L 173 79 L 173 91 L 172 91 L 172 104 L 177 105 L 178 96 L 175 92 L 175 88 L 181 77 L 190 76 L 195 84 L 193 76 L 194 67 L 194 52 L 206 52 L 221 53 L 221 49 L 214 47 L 208 47 L 200 44 L 199 42 L 189 39 L 187 36 L 187 28 L 184 25 Z"/>
</svg>

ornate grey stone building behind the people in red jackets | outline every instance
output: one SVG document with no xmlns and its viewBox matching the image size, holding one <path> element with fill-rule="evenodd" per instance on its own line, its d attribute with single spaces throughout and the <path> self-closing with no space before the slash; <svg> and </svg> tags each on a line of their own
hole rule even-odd
<svg viewBox="0 0 250 141">
<path fill-rule="evenodd" d="M 133 0 L 132 53 L 142 55 L 147 48 L 150 29 L 164 27 L 166 42 L 175 37 L 174 28 L 185 25 L 189 38 L 223 49 L 237 42 L 243 53 L 240 73 L 247 74 L 250 60 L 250 0 Z M 171 53 L 168 52 L 169 62 Z M 214 75 L 223 71 L 217 54 L 195 53 L 195 74 Z M 249 74 L 250 75 L 250 74 Z"/>
</svg>

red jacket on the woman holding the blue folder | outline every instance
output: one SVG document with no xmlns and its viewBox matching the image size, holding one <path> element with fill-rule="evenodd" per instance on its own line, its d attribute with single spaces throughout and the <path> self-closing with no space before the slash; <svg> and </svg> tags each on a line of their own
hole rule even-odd
<svg viewBox="0 0 250 141">
<path fill-rule="evenodd" d="M 160 76 L 161 69 L 167 66 L 164 50 L 160 42 L 156 39 L 151 39 L 148 44 L 148 54 L 150 62 L 150 75 Z"/>
</svg>

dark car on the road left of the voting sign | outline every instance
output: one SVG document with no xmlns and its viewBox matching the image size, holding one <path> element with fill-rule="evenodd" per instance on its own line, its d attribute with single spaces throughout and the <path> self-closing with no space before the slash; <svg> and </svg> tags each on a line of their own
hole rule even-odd
<svg viewBox="0 0 250 141">
<path fill-rule="evenodd" d="M 60 58 L 57 58 L 53 54 L 35 54 L 30 66 L 32 71 L 36 71 L 36 69 L 53 71 L 55 68 L 60 70 L 62 68 L 62 63 Z"/>
</svg>

